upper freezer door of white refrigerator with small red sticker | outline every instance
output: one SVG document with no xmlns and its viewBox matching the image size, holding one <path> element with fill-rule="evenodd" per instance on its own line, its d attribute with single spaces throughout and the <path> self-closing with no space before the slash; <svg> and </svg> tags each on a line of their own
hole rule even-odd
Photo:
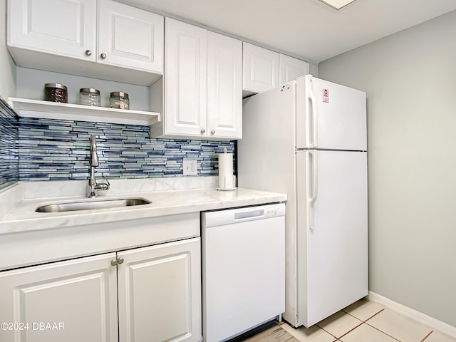
<svg viewBox="0 0 456 342">
<path fill-rule="evenodd" d="M 306 75 L 296 80 L 296 147 L 367 150 L 366 93 Z"/>
</svg>

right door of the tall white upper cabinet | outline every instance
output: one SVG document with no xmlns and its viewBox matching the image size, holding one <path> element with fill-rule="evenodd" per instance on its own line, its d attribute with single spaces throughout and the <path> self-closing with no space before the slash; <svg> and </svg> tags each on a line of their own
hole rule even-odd
<svg viewBox="0 0 456 342">
<path fill-rule="evenodd" d="M 242 138 L 242 41 L 207 36 L 207 136 Z"/>
</svg>

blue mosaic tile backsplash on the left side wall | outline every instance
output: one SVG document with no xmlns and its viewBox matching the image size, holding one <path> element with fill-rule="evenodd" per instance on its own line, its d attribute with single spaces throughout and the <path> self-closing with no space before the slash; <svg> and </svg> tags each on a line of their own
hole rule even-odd
<svg viewBox="0 0 456 342">
<path fill-rule="evenodd" d="M 19 180 L 18 119 L 0 98 L 0 189 Z"/>
</svg>

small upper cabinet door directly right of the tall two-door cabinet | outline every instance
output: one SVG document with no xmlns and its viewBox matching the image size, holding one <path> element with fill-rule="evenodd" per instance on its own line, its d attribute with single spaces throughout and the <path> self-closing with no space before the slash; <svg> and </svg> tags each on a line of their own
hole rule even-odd
<svg viewBox="0 0 456 342">
<path fill-rule="evenodd" d="M 279 53 L 244 42 L 243 88 L 261 93 L 279 86 Z"/>
</svg>

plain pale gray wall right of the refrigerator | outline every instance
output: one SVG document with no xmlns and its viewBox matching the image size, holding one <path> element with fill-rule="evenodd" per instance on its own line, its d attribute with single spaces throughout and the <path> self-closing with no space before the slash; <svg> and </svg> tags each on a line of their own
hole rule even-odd
<svg viewBox="0 0 456 342">
<path fill-rule="evenodd" d="M 369 287 L 456 326 L 456 11 L 318 66 L 368 95 Z"/>
</svg>

